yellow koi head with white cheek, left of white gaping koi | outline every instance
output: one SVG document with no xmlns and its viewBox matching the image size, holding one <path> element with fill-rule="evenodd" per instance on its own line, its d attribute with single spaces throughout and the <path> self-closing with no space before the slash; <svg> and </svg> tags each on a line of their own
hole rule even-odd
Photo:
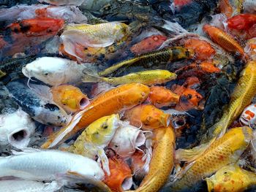
<svg viewBox="0 0 256 192">
<path fill-rule="evenodd" d="M 86 128 L 86 134 L 96 145 L 108 145 L 119 127 L 119 115 L 113 114 L 99 118 Z"/>
</svg>

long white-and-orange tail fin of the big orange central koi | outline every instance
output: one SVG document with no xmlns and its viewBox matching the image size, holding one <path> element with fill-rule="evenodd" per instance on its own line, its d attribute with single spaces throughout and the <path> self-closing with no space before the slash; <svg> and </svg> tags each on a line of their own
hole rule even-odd
<svg viewBox="0 0 256 192">
<path fill-rule="evenodd" d="M 54 147 L 54 146 L 58 145 L 59 142 L 61 142 L 61 140 L 64 139 L 64 137 L 67 134 L 69 134 L 69 132 L 72 131 L 73 128 L 75 128 L 75 126 L 78 124 L 80 119 L 83 117 L 83 113 L 85 113 L 87 110 L 91 109 L 92 107 L 88 107 L 88 108 L 86 108 L 86 110 L 82 110 L 82 111 L 78 112 L 78 114 L 75 115 L 74 118 L 72 118 L 72 120 L 70 121 L 69 125 L 67 125 L 66 127 L 62 128 L 59 131 L 59 133 L 53 134 L 53 137 L 55 137 L 53 139 L 53 142 L 49 142 L 49 141 L 45 142 L 45 144 L 43 144 L 41 147 L 43 147 L 43 148 L 50 148 L 50 147 Z"/>
</svg>

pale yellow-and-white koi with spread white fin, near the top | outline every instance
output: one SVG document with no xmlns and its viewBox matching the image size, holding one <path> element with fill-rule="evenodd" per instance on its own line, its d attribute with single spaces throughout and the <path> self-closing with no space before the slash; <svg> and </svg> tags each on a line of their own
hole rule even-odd
<svg viewBox="0 0 256 192">
<path fill-rule="evenodd" d="M 83 47 L 83 50 L 88 47 L 108 47 L 117 42 L 124 42 L 128 34 L 128 26 L 120 22 L 95 25 L 72 24 L 66 26 L 64 33 L 61 34 L 61 39 L 64 45 L 64 52 L 78 57 L 77 45 Z"/>
</svg>

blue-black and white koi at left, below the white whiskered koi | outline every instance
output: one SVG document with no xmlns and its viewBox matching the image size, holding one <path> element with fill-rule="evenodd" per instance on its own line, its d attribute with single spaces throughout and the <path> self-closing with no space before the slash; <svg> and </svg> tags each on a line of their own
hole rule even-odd
<svg viewBox="0 0 256 192">
<path fill-rule="evenodd" d="M 23 83 L 12 81 L 8 83 L 7 89 L 23 111 L 39 123 L 63 126 L 69 122 L 69 116 L 63 109 L 53 101 L 40 97 Z"/>
</svg>

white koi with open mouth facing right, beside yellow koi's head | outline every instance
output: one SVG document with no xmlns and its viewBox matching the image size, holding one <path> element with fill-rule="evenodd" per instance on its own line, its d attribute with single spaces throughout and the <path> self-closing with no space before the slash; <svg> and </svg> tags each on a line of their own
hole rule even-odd
<svg viewBox="0 0 256 192">
<path fill-rule="evenodd" d="M 127 158 L 135 153 L 136 148 L 144 145 L 146 137 L 139 128 L 124 122 L 121 124 L 108 147 L 122 158 Z"/>
</svg>

